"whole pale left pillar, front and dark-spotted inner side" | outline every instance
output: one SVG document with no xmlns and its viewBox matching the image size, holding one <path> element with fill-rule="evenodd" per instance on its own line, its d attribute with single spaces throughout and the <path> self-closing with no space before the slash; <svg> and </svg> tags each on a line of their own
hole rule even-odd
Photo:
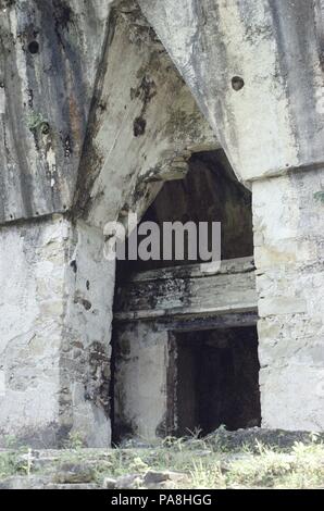
<svg viewBox="0 0 324 511">
<path fill-rule="evenodd" d="M 0 438 L 110 445 L 114 264 L 103 236 L 63 215 L 0 229 Z"/>
</svg>

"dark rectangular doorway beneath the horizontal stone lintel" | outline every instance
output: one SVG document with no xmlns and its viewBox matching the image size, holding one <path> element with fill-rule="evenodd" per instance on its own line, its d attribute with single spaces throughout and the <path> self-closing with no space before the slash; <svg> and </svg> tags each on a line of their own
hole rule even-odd
<svg viewBox="0 0 324 511">
<path fill-rule="evenodd" d="M 178 436 L 221 425 L 260 426 L 256 326 L 173 334 L 174 429 Z"/>
</svg>

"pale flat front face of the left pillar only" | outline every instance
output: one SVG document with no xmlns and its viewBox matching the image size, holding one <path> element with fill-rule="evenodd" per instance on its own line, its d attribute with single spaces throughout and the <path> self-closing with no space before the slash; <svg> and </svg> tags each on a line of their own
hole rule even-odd
<svg viewBox="0 0 324 511">
<path fill-rule="evenodd" d="M 0 230 L 1 441 L 7 435 L 52 445 L 59 431 L 60 344 L 68 228 L 45 225 Z"/>
</svg>

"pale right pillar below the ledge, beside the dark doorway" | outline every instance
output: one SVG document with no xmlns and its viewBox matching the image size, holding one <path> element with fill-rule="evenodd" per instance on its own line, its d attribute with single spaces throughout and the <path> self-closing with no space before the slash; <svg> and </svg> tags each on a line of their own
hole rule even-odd
<svg viewBox="0 0 324 511">
<path fill-rule="evenodd" d="M 324 428 L 324 169 L 253 183 L 262 425 Z"/>
</svg>

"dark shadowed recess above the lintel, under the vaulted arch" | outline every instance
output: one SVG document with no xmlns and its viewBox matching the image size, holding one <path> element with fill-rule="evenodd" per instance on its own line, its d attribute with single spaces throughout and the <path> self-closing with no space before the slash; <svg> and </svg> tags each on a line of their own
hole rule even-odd
<svg viewBox="0 0 324 511">
<path fill-rule="evenodd" d="M 194 154 L 187 176 L 164 184 L 142 222 L 161 228 L 164 222 L 221 222 L 222 260 L 253 253 L 251 192 L 237 180 L 223 150 Z M 201 261 L 190 261 L 187 254 L 183 261 L 117 261 L 117 285 L 133 273 L 195 262 Z"/>
</svg>

